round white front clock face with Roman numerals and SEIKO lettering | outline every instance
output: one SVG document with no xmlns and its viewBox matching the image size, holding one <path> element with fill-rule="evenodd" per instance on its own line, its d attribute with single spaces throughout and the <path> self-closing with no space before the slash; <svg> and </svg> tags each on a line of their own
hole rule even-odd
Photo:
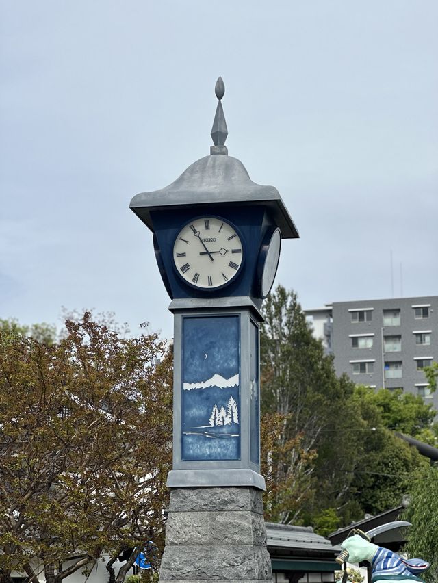
<svg viewBox="0 0 438 583">
<path fill-rule="evenodd" d="M 231 283 L 243 260 L 240 236 L 220 217 L 192 220 L 179 231 L 173 246 L 179 276 L 198 289 L 217 289 Z"/>
</svg>

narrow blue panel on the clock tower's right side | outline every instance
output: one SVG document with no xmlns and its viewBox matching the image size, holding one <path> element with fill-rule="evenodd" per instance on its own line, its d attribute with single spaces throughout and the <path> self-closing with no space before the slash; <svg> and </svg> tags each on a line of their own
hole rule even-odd
<svg viewBox="0 0 438 583">
<path fill-rule="evenodd" d="M 249 328 L 249 448 L 250 461 L 259 463 L 259 328 L 250 320 Z"/>
</svg>

